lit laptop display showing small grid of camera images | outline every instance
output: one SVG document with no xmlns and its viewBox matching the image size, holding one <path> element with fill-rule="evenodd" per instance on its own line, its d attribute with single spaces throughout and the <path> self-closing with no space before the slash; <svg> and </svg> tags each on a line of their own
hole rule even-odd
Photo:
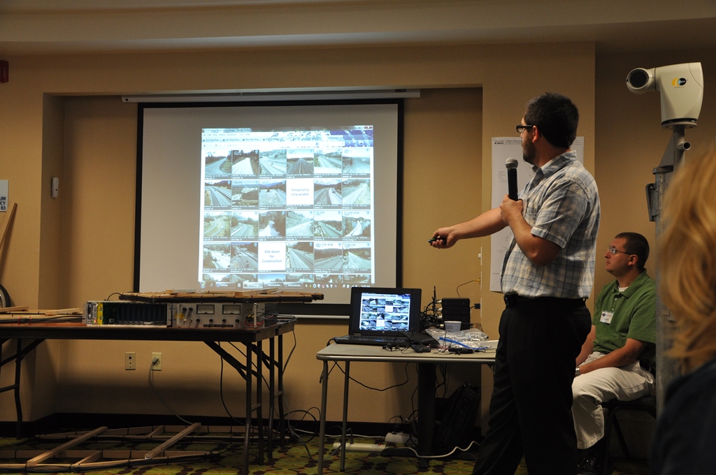
<svg viewBox="0 0 716 475">
<path fill-rule="evenodd" d="M 410 315 L 410 294 L 364 294 L 361 302 L 361 330 L 407 331 Z"/>
</svg>

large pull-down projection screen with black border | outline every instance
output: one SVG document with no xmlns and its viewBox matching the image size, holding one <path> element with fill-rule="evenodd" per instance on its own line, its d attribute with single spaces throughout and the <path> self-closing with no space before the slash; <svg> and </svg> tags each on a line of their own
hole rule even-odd
<svg viewBox="0 0 716 475">
<path fill-rule="evenodd" d="M 140 104 L 135 291 L 401 285 L 402 101 Z"/>
</svg>

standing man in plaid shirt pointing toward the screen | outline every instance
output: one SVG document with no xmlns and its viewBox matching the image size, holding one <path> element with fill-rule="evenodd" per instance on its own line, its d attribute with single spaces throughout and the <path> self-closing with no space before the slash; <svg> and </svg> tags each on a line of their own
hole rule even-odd
<svg viewBox="0 0 716 475">
<path fill-rule="evenodd" d="M 579 112 L 545 93 L 526 104 L 523 159 L 535 176 L 518 200 L 436 230 L 434 248 L 493 234 L 513 238 L 501 275 L 505 310 L 495 355 L 490 423 L 475 474 L 513 474 L 525 457 L 531 475 L 576 473 L 571 421 L 574 361 L 591 329 L 584 305 L 594 285 L 599 194 L 571 144 Z"/>
</svg>

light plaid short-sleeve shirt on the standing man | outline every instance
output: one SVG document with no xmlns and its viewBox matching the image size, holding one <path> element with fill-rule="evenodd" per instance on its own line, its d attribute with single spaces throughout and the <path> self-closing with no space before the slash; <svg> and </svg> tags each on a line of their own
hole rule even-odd
<svg viewBox="0 0 716 475">
<path fill-rule="evenodd" d="M 587 298 L 594 285 L 596 233 L 601 211 L 594 177 L 565 152 L 535 170 L 520 193 L 532 234 L 561 248 L 548 265 L 537 267 L 516 245 L 505 255 L 502 291 L 523 297 Z"/>
</svg>

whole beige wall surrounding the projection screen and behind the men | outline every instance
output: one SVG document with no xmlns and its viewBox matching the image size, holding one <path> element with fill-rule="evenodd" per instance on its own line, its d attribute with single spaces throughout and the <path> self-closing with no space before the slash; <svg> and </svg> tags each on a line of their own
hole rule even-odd
<svg viewBox="0 0 716 475">
<path fill-rule="evenodd" d="M 427 303 L 433 286 L 438 298 L 454 297 L 458 285 L 482 277 L 481 285 L 470 282 L 459 291 L 473 302 L 481 300 L 483 309 L 473 310 L 473 321 L 497 337 L 503 303 L 499 294 L 487 290 L 489 239 L 440 251 L 425 243 L 436 227 L 488 208 L 490 137 L 515 134 L 523 106 L 534 95 L 546 90 L 569 95 L 581 112 L 586 165 L 596 170 L 602 229 L 611 235 L 621 230 L 626 213 L 649 237 L 643 188 L 653 181 L 649 174 L 668 134 L 658 127 L 657 95 L 629 94 L 624 77 L 632 67 L 682 62 L 673 59 L 677 56 L 597 58 L 592 44 L 536 44 L 10 57 L 11 82 L 0 84 L 0 178 L 10 180 L 11 201 L 18 202 L 18 210 L 0 283 L 14 303 L 32 308 L 79 306 L 130 290 L 136 107 L 122 104 L 118 94 L 420 87 L 422 98 L 405 105 L 403 283 L 423 288 Z M 611 110 L 616 110 L 613 117 Z M 716 121 L 705 115 L 702 122 L 712 131 Z M 635 124 L 643 134 L 632 131 Z M 696 136 L 689 132 L 687 137 L 693 141 Z M 625 142 L 632 144 L 634 162 L 616 175 L 626 161 Z M 642 142 L 656 151 L 645 153 Z M 57 200 L 49 198 L 52 176 L 61 179 Z M 619 185 L 611 187 L 613 183 Z M 632 192 L 633 200 L 622 200 Z M 610 239 L 600 232 L 599 247 Z M 602 285 L 608 275 L 599 258 L 597 268 L 597 285 Z M 344 330 L 344 320 L 300 320 L 296 325 L 296 349 L 286 372 L 289 410 L 319 403 L 321 366 L 315 353 Z M 155 384 L 170 406 L 185 414 L 225 415 L 218 395 L 218 357 L 200 343 L 62 341 L 44 346 L 26 359 L 26 420 L 72 411 L 167 413 L 147 386 L 147 372 L 141 371 L 153 351 L 164 353 L 164 369 L 155 374 Z M 286 347 L 291 346 L 293 338 L 287 336 Z M 140 371 L 122 369 L 125 351 L 137 352 Z M 453 371 L 477 377 L 475 368 Z M 377 393 L 352 385 L 349 418 L 385 422 L 407 416 L 417 381 L 415 368 L 407 372 L 410 383 L 397 390 Z M 482 373 L 486 393 L 491 381 L 488 371 Z M 338 375 L 334 369 L 329 420 L 340 417 Z M 0 384 L 9 376 L 3 371 Z M 387 364 L 354 365 L 352 376 L 376 388 L 406 377 L 404 368 Z M 243 416 L 238 377 L 225 372 L 224 378 L 231 413 Z M 0 402 L 0 421 L 14 420 L 11 396 L 1 394 Z"/>
</svg>

